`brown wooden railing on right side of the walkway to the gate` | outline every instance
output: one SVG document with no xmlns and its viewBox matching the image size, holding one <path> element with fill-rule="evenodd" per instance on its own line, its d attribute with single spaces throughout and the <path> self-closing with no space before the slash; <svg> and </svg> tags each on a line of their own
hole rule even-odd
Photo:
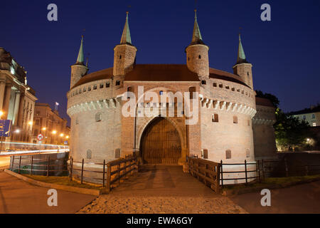
<svg viewBox="0 0 320 228">
<path fill-rule="evenodd" d="M 189 172 L 193 177 L 210 187 L 215 192 L 220 192 L 220 164 L 203 160 L 198 157 L 187 157 Z"/>
</svg>

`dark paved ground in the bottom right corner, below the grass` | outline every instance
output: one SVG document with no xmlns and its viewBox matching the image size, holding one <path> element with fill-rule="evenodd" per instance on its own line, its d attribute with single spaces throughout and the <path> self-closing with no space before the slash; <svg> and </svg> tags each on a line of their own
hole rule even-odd
<svg viewBox="0 0 320 228">
<path fill-rule="evenodd" d="M 249 213 L 316 213 L 320 214 L 320 181 L 271 190 L 271 207 L 262 207 L 260 193 L 230 197 Z"/>
</svg>

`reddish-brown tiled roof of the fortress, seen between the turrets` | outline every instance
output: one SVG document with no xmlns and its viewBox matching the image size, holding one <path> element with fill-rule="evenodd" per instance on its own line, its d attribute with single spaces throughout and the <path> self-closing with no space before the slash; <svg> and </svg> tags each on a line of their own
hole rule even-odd
<svg viewBox="0 0 320 228">
<path fill-rule="evenodd" d="M 233 73 L 210 68 L 210 78 L 240 83 L 244 86 L 240 76 Z M 113 68 L 96 71 L 82 77 L 73 88 L 84 83 L 112 78 Z M 126 74 L 124 81 L 199 81 L 198 75 L 188 70 L 185 64 L 137 64 Z"/>
</svg>

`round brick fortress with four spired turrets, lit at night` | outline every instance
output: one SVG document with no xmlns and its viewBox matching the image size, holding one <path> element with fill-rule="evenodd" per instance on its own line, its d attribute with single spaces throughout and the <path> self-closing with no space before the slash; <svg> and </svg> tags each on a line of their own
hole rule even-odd
<svg viewBox="0 0 320 228">
<path fill-rule="evenodd" d="M 85 169 L 98 170 L 101 167 L 93 163 L 133 153 L 140 164 L 183 167 L 191 155 L 224 163 L 255 162 L 276 155 L 274 107 L 270 100 L 255 97 L 252 64 L 247 62 L 240 36 L 233 73 L 210 68 L 209 47 L 203 42 L 196 14 L 192 41 L 185 49 L 186 64 L 136 64 L 128 14 L 121 41 L 114 47 L 113 67 L 88 73 L 82 41 L 77 62 L 71 66 L 67 97 L 70 155 L 76 161 L 84 159 Z M 144 95 L 138 96 L 138 86 L 143 86 Z M 186 125 L 188 118 L 178 111 L 185 100 L 153 103 L 145 97 L 149 91 L 158 94 L 159 100 L 164 93 L 191 92 L 191 103 L 198 105 L 198 121 Z M 173 107 L 175 115 L 125 117 L 126 92 L 137 98 L 134 113 Z M 198 95 L 193 97 L 193 92 Z M 93 176 L 86 181 L 96 182 Z"/>
</svg>

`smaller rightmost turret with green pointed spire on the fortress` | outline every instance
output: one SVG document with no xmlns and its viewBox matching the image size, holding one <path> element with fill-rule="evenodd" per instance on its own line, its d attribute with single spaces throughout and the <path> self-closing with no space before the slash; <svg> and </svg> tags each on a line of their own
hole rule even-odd
<svg viewBox="0 0 320 228">
<path fill-rule="evenodd" d="M 242 80 L 253 89 L 252 83 L 252 64 L 247 62 L 245 58 L 245 51 L 243 50 L 241 38 L 239 34 L 239 48 L 238 48 L 238 58 L 237 63 L 233 66 L 233 73 L 240 76 Z"/>
</svg>

